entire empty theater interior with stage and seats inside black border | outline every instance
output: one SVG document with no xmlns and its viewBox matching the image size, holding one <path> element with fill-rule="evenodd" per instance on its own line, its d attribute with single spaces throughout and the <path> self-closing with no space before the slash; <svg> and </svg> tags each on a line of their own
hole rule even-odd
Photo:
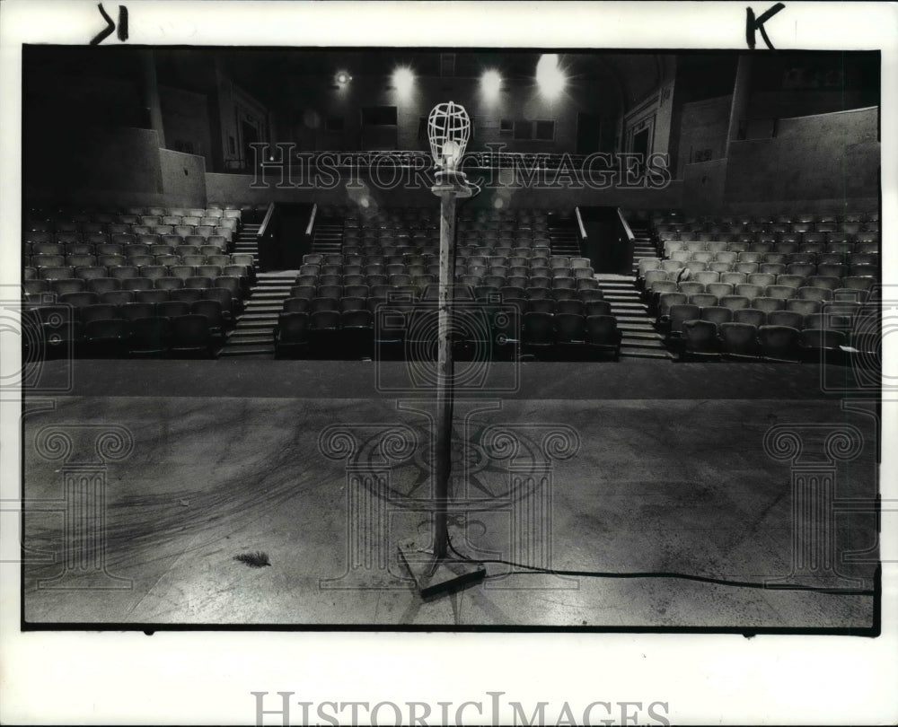
<svg viewBox="0 0 898 727">
<path fill-rule="evenodd" d="M 25 46 L 24 625 L 875 633 L 879 62 Z"/>
</svg>

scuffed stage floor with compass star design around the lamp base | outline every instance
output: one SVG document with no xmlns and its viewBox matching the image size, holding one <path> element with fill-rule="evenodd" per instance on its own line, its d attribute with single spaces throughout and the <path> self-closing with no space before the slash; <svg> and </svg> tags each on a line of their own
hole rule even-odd
<svg viewBox="0 0 898 727">
<path fill-rule="evenodd" d="M 876 513 L 858 503 L 876 498 L 876 396 L 821 392 L 849 369 L 493 373 L 456 403 L 450 513 L 487 579 L 424 601 L 397 543 L 431 532 L 433 406 L 403 363 L 41 364 L 22 419 L 25 625 L 875 627 L 867 592 L 489 562 L 874 589 Z M 237 559 L 257 551 L 269 565 Z"/>
</svg>

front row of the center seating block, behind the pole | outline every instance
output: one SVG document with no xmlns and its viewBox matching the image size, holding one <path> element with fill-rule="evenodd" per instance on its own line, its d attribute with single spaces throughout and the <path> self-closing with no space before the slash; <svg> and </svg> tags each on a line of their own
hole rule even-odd
<svg viewBox="0 0 898 727">
<path fill-rule="evenodd" d="M 278 357 L 375 358 L 433 361 L 437 343 L 436 306 L 381 302 L 368 309 L 285 311 L 275 328 Z M 453 355 L 459 361 L 617 358 L 621 331 L 610 315 L 525 312 L 505 304 L 467 310 L 455 320 Z"/>
</svg>

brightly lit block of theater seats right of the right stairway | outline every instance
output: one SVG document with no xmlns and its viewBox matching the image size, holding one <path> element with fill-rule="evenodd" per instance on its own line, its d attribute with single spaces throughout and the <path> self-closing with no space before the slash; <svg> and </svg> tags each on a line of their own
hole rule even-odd
<svg viewBox="0 0 898 727">
<path fill-rule="evenodd" d="M 842 362 L 877 345 L 876 213 L 650 220 L 660 254 L 638 285 L 682 358 Z"/>
</svg>

